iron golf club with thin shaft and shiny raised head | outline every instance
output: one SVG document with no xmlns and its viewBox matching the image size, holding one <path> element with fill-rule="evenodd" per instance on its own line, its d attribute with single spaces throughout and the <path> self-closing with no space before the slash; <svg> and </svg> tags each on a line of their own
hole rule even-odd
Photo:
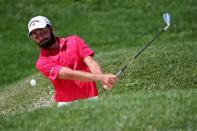
<svg viewBox="0 0 197 131">
<path fill-rule="evenodd" d="M 148 46 L 150 46 L 154 41 L 155 39 L 157 39 L 162 32 L 166 31 L 170 25 L 171 25 L 171 15 L 169 13 L 164 13 L 163 14 L 163 19 L 164 19 L 164 22 L 165 22 L 165 26 L 162 28 L 162 30 L 151 40 L 149 41 L 134 57 L 132 57 L 132 59 L 127 63 L 125 64 L 117 73 L 116 73 L 116 76 L 120 77 L 121 74 L 125 71 L 125 69 L 128 67 L 129 64 L 131 64 Z M 100 93 L 102 93 L 104 91 L 101 90 Z"/>
</svg>

